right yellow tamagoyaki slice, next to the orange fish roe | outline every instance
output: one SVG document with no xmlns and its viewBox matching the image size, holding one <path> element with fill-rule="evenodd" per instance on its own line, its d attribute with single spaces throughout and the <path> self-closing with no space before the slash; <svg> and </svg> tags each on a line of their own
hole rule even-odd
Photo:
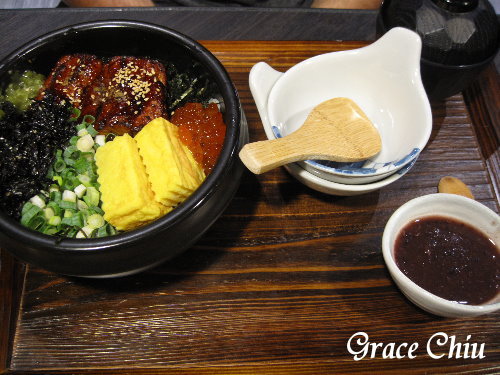
<svg viewBox="0 0 500 375">
<path fill-rule="evenodd" d="M 176 206 L 199 186 L 201 182 L 191 176 L 186 156 L 190 151 L 180 142 L 177 126 L 160 117 L 144 126 L 135 140 L 159 202 Z"/>
</svg>

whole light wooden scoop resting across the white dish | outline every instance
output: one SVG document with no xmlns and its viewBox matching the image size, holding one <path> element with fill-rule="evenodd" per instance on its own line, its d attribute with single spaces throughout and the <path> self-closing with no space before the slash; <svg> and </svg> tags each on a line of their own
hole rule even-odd
<svg viewBox="0 0 500 375">
<path fill-rule="evenodd" d="M 283 138 L 249 143 L 240 159 L 255 174 L 284 164 L 309 160 L 355 162 L 376 155 L 380 135 L 356 103 L 327 100 L 313 108 L 304 124 Z"/>
</svg>

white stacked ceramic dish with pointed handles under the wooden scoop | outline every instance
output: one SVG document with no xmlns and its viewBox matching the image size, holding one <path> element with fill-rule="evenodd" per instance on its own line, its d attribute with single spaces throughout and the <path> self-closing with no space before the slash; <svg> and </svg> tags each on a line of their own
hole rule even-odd
<svg viewBox="0 0 500 375">
<path fill-rule="evenodd" d="M 417 159 L 432 130 L 430 104 L 420 78 L 420 51 L 418 34 L 394 28 L 369 46 L 314 56 L 285 73 L 257 63 L 249 84 L 266 136 L 286 136 L 300 127 L 317 104 L 347 97 L 379 131 L 381 152 L 350 165 L 311 160 L 297 164 L 338 183 L 384 179 Z"/>
</svg>

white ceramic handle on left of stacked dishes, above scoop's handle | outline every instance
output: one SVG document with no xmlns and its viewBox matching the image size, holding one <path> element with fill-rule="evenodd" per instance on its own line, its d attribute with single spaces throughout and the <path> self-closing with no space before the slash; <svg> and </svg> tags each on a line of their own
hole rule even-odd
<svg viewBox="0 0 500 375">
<path fill-rule="evenodd" d="M 260 118 L 264 123 L 266 135 L 271 139 L 274 138 L 274 135 L 272 133 L 267 134 L 267 129 L 271 129 L 271 124 L 269 124 L 269 115 L 267 112 L 267 102 L 271 89 L 282 75 L 283 73 L 271 68 L 271 66 L 265 62 L 259 62 L 252 67 L 248 77 L 250 91 L 254 98 L 255 105 L 257 106 L 257 110 L 259 111 Z"/>
</svg>

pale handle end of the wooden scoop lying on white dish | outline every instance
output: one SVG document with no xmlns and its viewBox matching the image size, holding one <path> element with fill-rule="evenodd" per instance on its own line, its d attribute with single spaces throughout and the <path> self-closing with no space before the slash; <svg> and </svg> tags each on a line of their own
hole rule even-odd
<svg viewBox="0 0 500 375">
<path fill-rule="evenodd" d="M 290 135 L 267 141 L 248 143 L 240 151 L 240 159 L 255 174 L 261 174 L 282 165 L 309 159 L 309 155 L 295 147 Z"/>
</svg>

